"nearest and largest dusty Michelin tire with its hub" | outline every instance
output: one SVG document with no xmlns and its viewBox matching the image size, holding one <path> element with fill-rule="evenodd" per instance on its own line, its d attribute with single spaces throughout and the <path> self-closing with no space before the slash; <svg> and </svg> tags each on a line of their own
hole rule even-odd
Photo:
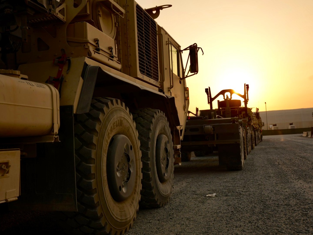
<svg viewBox="0 0 313 235">
<path fill-rule="evenodd" d="M 78 212 L 64 212 L 70 234 L 123 234 L 139 208 L 141 151 L 125 104 L 92 100 L 74 125 Z"/>
</svg>

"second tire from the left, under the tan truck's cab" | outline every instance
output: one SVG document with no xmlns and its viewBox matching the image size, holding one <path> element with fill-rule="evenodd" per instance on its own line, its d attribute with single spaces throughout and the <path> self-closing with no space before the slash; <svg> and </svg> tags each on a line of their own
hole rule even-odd
<svg viewBox="0 0 313 235">
<path fill-rule="evenodd" d="M 164 206 L 171 195 L 174 178 L 174 150 L 171 129 L 160 110 L 133 112 L 142 153 L 141 206 Z"/>
</svg>

